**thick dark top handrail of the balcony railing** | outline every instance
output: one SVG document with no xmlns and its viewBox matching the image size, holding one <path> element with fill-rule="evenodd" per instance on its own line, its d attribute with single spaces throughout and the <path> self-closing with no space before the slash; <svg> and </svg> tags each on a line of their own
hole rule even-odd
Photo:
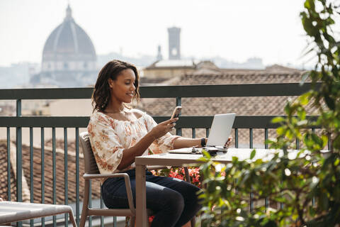
<svg viewBox="0 0 340 227">
<path fill-rule="evenodd" d="M 142 98 L 298 96 L 310 88 L 311 83 L 142 86 L 140 94 Z M 0 99 L 90 99 L 93 90 L 93 87 L 0 89 Z"/>
</svg>

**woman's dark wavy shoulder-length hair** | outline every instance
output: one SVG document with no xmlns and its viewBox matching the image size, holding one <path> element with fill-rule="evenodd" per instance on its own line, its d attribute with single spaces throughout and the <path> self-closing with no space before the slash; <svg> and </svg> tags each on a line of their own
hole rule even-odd
<svg viewBox="0 0 340 227">
<path fill-rule="evenodd" d="M 106 109 L 106 106 L 108 106 L 108 102 L 111 99 L 108 79 L 115 80 L 120 72 L 128 69 L 135 72 L 136 76 L 134 82 L 135 93 L 132 99 L 137 99 L 137 101 L 140 100 L 140 92 L 138 91 L 140 76 L 135 65 L 120 60 L 112 60 L 106 63 L 106 65 L 101 69 L 101 72 L 98 74 L 96 85 L 94 86 L 94 93 L 92 94 L 92 106 L 94 107 L 94 111 L 103 112 Z"/>
</svg>

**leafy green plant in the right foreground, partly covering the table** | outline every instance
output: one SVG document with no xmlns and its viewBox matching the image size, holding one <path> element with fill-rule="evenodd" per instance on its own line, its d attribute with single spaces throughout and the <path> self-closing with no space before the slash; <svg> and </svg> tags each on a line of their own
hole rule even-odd
<svg viewBox="0 0 340 227">
<path fill-rule="evenodd" d="M 249 160 L 234 157 L 228 165 L 205 153 L 202 226 L 340 226 L 340 42 L 332 31 L 339 5 L 306 0 L 300 13 L 311 40 L 306 55 L 317 63 L 302 77 L 312 82 L 310 91 L 288 101 L 285 118 L 273 119 L 280 127 L 267 143 L 283 153 L 254 160 L 253 150 Z M 307 118 L 311 107 L 315 117 Z M 291 158 L 296 140 L 300 152 Z"/>
</svg>

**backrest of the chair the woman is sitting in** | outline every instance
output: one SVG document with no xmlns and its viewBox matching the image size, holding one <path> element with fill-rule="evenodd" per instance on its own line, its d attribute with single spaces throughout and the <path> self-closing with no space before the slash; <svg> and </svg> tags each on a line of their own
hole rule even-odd
<svg viewBox="0 0 340 227">
<path fill-rule="evenodd" d="M 99 170 L 96 159 L 94 158 L 94 153 L 92 152 L 89 133 L 87 131 L 84 133 L 80 133 L 79 141 L 81 144 L 81 148 L 83 148 L 85 173 L 98 174 Z"/>
</svg>

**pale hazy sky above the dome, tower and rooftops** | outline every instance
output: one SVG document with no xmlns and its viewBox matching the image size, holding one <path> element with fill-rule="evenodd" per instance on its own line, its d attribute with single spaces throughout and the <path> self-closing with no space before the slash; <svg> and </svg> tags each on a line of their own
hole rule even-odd
<svg viewBox="0 0 340 227">
<path fill-rule="evenodd" d="M 303 0 L 70 0 L 72 15 L 97 54 L 168 56 L 167 28 L 181 28 L 181 54 L 265 65 L 300 65 L 306 45 Z M 62 23 L 67 0 L 0 0 L 0 66 L 40 62 L 48 35 Z"/>
</svg>

